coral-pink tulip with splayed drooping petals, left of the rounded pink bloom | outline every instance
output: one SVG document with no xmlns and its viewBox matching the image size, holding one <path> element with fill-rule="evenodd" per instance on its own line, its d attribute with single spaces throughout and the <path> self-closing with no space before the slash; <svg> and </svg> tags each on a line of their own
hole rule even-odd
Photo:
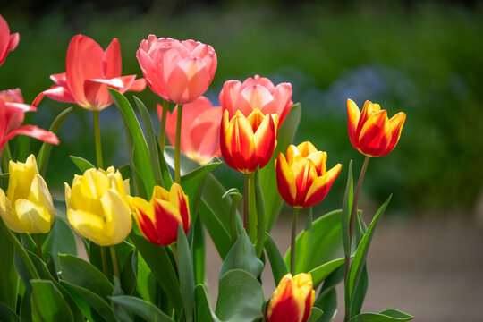
<svg viewBox="0 0 483 322">
<path fill-rule="evenodd" d="M 124 93 L 146 87 L 144 79 L 136 80 L 136 75 L 121 76 L 121 71 L 121 47 L 117 38 L 104 51 L 93 39 L 77 35 L 67 48 L 65 72 L 50 75 L 55 85 L 40 93 L 34 105 L 47 96 L 100 111 L 113 103 L 108 88 Z"/>
</svg>

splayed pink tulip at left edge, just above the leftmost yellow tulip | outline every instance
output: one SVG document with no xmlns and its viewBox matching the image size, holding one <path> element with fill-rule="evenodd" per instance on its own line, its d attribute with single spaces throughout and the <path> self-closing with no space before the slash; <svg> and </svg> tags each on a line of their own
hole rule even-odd
<svg viewBox="0 0 483 322">
<path fill-rule="evenodd" d="M 35 125 L 23 125 L 26 112 L 34 112 L 37 108 L 23 103 L 20 89 L 0 91 L 0 153 L 4 145 L 17 135 L 27 135 L 51 144 L 59 144 L 57 136 Z"/>
</svg>

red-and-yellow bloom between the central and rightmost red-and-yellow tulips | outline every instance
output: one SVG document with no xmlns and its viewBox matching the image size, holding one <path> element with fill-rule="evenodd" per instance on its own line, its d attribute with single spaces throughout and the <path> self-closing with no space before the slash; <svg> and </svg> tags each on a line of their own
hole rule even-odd
<svg viewBox="0 0 483 322">
<path fill-rule="evenodd" d="M 290 206 L 307 208 L 326 198 L 342 165 L 326 169 L 326 152 L 318 151 L 308 141 L 287 148 L 286 157 L 280 153 L 275 160 L 276 186 Z"/>
</svg>

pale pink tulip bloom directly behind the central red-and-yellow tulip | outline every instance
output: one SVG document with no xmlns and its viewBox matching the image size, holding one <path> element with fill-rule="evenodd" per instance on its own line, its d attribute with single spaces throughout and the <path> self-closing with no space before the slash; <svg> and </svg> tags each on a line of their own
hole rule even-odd
<svg viewBox="0 0 483 322">
<path fill-rule="evenodd" d="M 227 80 L 220 92 L 220 103 L 233 117 L 237 111 L 248 116 L 255 109 L 263 114 L 277 114 L 279 124 L 284 123 L 285 116 L 292 108 L 292 85 L 280 83 L 276 86 L 271 80 L 255 75 L 245 81 Z"/>
</svg>

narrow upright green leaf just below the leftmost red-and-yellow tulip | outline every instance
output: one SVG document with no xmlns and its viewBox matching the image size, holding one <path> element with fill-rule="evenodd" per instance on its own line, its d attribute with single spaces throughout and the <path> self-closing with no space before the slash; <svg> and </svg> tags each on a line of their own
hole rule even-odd
<svg viewBox="0 0 483 322">
<path fill-rule="evenodd" d="M 180 276 L 180 288 L 182 292 L 182 304 L 186 321 L 193 320 L 195 284 L 193 273 L 193 260 L 191 250 L 182 230 L 182 225 L 178 226 L 178 272 Z"/>
</svg>

